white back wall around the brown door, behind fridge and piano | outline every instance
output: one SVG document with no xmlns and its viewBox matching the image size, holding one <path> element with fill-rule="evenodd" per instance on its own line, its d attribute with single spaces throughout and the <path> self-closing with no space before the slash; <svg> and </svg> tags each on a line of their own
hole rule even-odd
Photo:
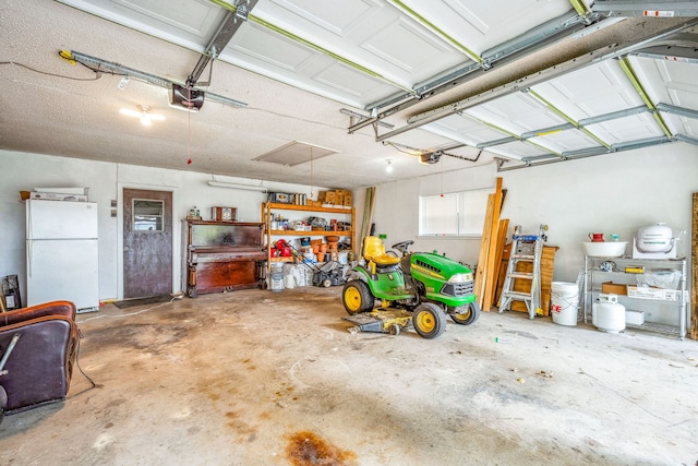
<svg viewBox="0 0 698 466">
<path fill-rule="evenodd" d="M 112 164 L 38 154 L 0 151 L 2 183 L 0 184 L 0 277 L 19 275 L 23 303 L 26 303 L 25 218 L 19 191 L 34 188 L 88 187 L 89 201 L 99 204 L 99 299 L 120 299 L 122 290 L 122 222 L 123 188 L 172 191 L 173 199 L 173 276 L 172 289 L 183 289 L 181 222 L 193 206 L 204 219 L 210 218 L 212 206 L 237 207 L 241 222 L 262 222 L 261 204 L 266 194 L 260 191 L 214 188 L 207 184 L 210 175 L 183 170 L 163 170 L 133 165 Z M 216 181 L 256 184 L 245 180 L 216 176 Z M 309 192 L 298 184 L 264 186 L 282 192 Z M 314 187 L 313 192 L 326 188 Z M 111 201 L 117 200 L 118 217 L 111 217 Z"/>
</svg>

